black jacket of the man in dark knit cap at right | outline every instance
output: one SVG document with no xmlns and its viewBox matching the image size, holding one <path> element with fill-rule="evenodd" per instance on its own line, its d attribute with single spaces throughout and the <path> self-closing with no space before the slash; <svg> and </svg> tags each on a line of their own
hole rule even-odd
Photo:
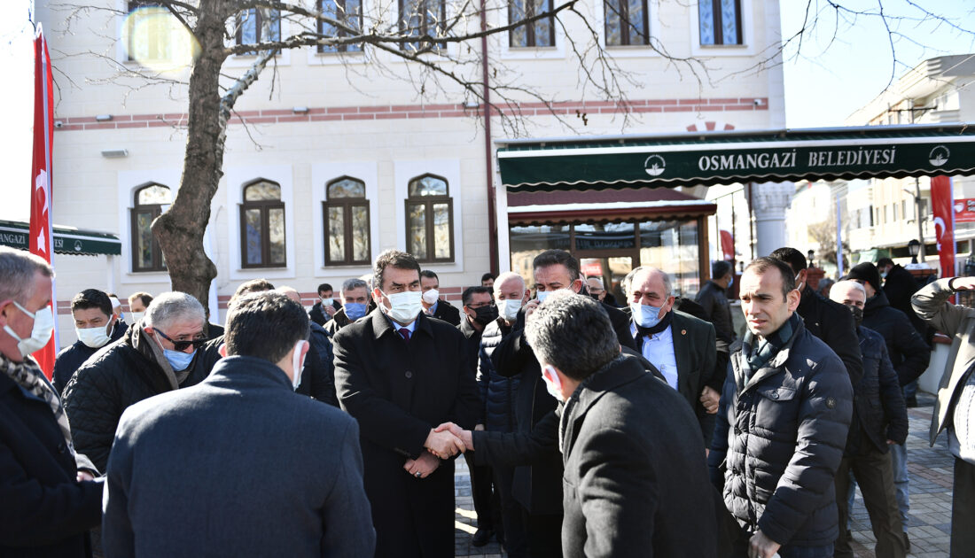
<svg viewBox="0 0 975 558">
<path fill-rule="evenodd" d="M 931 349 L 917 334 L 908 316 L 890 306 L 882 290 L 867 299 L 863 325 L 878 332 L 887 342 L 887 355 L 901 386 L 914 382 L 927 369 Z"/>
</svg>

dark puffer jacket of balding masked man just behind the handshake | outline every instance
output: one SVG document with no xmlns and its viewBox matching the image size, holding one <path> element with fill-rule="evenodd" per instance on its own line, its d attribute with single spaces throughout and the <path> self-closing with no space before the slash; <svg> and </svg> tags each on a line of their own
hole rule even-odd
<svg viewBox="0 0 975 558">
<path fill-rule="evenodd" d="M 481 334 L 478 388 L 485 405 L 484 414 L 478 422 L 492 432 L 514 432 L 518 427 L 515 421 L 515 394 L 518 393 L 521 375 L 506 378 L 494 370 L 494 364 L 490 360 L 494 348 L 509 333 L 511 327 L 504 325 L 504 321 L 498 318 L 488 323 Z"/>
</svg>

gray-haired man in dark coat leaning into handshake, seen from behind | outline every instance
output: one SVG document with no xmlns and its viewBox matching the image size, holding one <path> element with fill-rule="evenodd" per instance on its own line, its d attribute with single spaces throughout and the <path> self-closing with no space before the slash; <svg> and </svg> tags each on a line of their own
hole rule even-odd
<svg viewBox="0 0 975 558">
<path fill-rule="evenodd" d="M 557 293 L 531 316 L 526 338 L 548 391 L 565 402 L 564 556 L 716 556 L 715 500 L 693 414 L 619 353 L 602 305 Z"/>
</svg>

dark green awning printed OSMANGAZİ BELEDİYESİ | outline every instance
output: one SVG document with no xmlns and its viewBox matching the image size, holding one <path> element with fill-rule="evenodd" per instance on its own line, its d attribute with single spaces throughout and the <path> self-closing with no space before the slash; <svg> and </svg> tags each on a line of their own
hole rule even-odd
<svg viewBox="0 0 975 558">
<path fill-rule="evenodd" d="M 975 173 L 975 126 L 685 132 L 498 142 L 518 190 L 694 186 Z"/>
</svg>

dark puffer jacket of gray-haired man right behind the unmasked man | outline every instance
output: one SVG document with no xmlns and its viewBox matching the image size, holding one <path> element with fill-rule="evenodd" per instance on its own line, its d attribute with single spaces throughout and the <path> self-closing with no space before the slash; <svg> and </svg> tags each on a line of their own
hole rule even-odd
<svg viewBox="0 0 975 558">
<path fill-rule="evenodd" d="M 883 337 L 862 325 L 856 333 L 863 353 L 863 380 L 854 389 L 856 413 L 846 439 L 846 454 L 855 456 L 869 445 L 887 453 L 887 440 L 903 444 L 908 438 L 908 410 Z"/>
</svg>

